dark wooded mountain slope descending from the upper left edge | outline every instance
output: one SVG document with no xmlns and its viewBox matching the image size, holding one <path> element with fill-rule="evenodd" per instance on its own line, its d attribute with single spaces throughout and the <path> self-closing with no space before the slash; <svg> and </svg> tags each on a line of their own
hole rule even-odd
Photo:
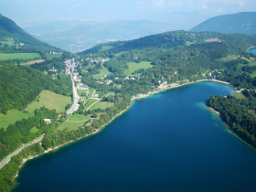
<svg viewBox="0 0 256 192">
<path fill-rule="evenodd" d="M 35 37 L 27 34 L 21 27 L 18 27 L 11 19 L 0 15 L 0 39 L 6 37 L 14 38 L 16 43 L 24 43 L 29 46 L 47 47 L 50 46 L 47 43 L 43 43 Z"/>
</svg>

